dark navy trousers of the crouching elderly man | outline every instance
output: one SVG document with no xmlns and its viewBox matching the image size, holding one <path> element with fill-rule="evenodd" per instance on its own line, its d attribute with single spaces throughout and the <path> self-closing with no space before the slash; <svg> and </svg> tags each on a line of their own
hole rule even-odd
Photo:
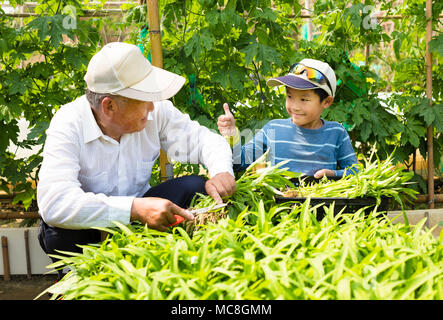
<svg viewBox="0 0 443 320">
<path fill-rule="evenodd" d="M 196 193 L 206 194 L 205 182 L 206 180 L 200 176 L 183 176 L 152 187 L 144 197 L 168 199 L 182 208 L 187 208 Z M 81 252 L 81 248 L 77 245 L 98 243 L 101 241 L 101 234 L 95 229 L 70 230 L 53 227 L 41 220 L 38 239 L 46 254 L 60 255 L 55 250 Z M 51 259 L 57 261 L 55 258 Z M 59 276 L 63 276 L 61 270 Z"/>
</svg>

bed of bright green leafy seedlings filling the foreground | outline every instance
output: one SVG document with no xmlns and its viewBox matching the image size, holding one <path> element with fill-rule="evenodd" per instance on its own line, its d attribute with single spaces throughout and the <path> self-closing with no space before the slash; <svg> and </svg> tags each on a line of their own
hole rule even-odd
<svg viewBox="0 0 443 320">
<path fill-rule="evenodd" d="M 100 229 L 110 234 L 101 244 L 61 252 L 52 266 L 71 271 L 48 291 L 66 300 L 442 298 L 443 233 L 434 238 L 425 220 L 394 224 L 377 209 L 335 214 L 332 204 L 317 221 L 309 199 L 272 204 L 268 182 L 287 182 L 277 169 L 245 175 L 258 203 L 239 197 L 251 203 L 192 236 L 181 226 Z"/>
</svg>

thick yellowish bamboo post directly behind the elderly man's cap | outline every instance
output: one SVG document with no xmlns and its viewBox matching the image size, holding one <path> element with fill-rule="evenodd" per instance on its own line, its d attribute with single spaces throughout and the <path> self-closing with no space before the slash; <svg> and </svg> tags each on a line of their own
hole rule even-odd
<svg viewBox="0 0 443 320">
<path fill-rule="evenodd" d="M 152 65 L 163 68 L 162 41 L 160 19 L 158 14 L 158 0 L 147 0 L 149 39 L 151 42 Z M 161 180 L 165 181 L 173 177 L 172 165 L 163 150 L 160 150 L 160 174 Z"/>
</svg>

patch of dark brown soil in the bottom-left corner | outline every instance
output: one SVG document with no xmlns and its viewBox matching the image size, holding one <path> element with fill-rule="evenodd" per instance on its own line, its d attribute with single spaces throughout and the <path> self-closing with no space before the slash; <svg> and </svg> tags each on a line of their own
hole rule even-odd
<svg viewBox="0 0 443 320">
<path fill-rule="evenodd" d="M 57 275 L 12 275 L 6 281 L 0 279 L 0 300 L 34 300 L 45 289 L 57 281 Z M 38 300 L 49 300 L 49 295 L 44 294 Z"/>
</svg>

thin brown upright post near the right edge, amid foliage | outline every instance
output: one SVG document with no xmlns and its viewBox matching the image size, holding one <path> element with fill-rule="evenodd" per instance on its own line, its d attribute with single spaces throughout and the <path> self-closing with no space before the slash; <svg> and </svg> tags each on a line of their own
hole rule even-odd
<svg viewBox="0 0 443 320">
<path fill-rule="evenodd" d="M 432 0 L 426 0 L 426 97 L 432 108 L 432 54 L 429 51 L 429 41 L 432 39 Z M 434 208 L 434 128 L 427 128 L 428 147 L 428 203 L 429 209 Z"/>
</svg>

